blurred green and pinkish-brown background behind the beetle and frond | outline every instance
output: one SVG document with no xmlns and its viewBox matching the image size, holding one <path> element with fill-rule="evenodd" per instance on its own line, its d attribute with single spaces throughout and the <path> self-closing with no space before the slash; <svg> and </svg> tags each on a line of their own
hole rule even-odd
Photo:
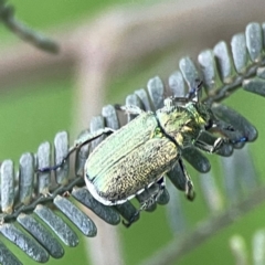
<svg viewBox="0 0 265 265">
<path fill-rule="evenodd" d="M 0 28 L 0 161 L 12 159 L 17 165 L 21 153 L 35 152 L 41 142 L 53 141 L 60 130 L 68 130 L 73 141 L 104 104 L 124 103 L 126 95 L 146 87 L 149 78 L 159 75 L 167 84 L 182 56 L 197 61 L 200 51 L 212 49 L 221 40 L 230 43 L 232 35 L 244 32 L 248 22 L 265 21 L 265 2 L 258 0 L 9 2 L 15 8 L 17 19 L 60 45 L 59 54 L 45 53 L 21 41 L 3 25 Z M 225 104 L 258 129 L 259 137 L 248 145 L 248 151 L 259 182 L 264 178 L 263 98 L 236 92 Z M 230 172 L 221 173 L 222 163 L 216 156 L 208 157 L 222 191 L 222 177 L 229 178 Z M 215 214 L 209 213 L 209 202 L 201 195 L 199 181 L 203 176 L 189 166 L 188 169 L 198 197 L 189 203 L 182 193 L 173 190 L 179 193 L 176 220 L 167 206 L 158 206 L 155 213 L 142 213 L 129 230 L 123 225 L 109 227 L 96 220 L 97 237 L 84 239 L 76 230 L 82 239 L 80 246 L 65 247 L 65 256 L 57 261 L 51 257 L 49 264 L 145 264 L 172 240 L 181 241 L 199 222 Z M 225 206 L 234 203 L 222 200 Z M 184 253 L 178 264 L 235 264 L 234 247 L 243 242 L 244 254 L 252 264 L 253 235 L 264 229 L 263 210 L 261 203 L 229 226 L 216 230 L 205 242 L 198 242 L 192 251 Z M 184 216 L 178 219 L 179 215 Z M 104 245 L 105 241 L 112 245 L 114 257 L 108 257 L 110 248 Z M 10 248 L 24 264 L 34 264 L 15 246 Z"/>
</svg>

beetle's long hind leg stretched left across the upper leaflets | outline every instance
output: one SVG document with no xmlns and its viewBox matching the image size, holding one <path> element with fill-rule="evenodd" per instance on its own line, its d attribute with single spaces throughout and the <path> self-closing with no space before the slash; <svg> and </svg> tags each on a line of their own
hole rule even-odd
<svg viewBox="0 0 265 265">
<path fill-rule="evenodd" d="M 115 130 L 108 127 L 105 127 L 103 129 L 98 129 L 94 132 L 87 132 L 85 134 L 83 137 L 81 137 L 78 140 L 75 141 L 74 146 L 70 148 L 67 155 L 62 159 L 62 161 L 53 167 L 46 167 L 46 168 L 41 168 L 41 169 L 36 169 L 36 172 L 49 172 L 49 171 L 53 171 L 56 170 L 59 168 L 61 168 L 70 158 L 70 156 L 78 150 L 82 146 L 88 144 L 92 140 L 97 139 L 98 137 L 100 137 L 102 135 L 110 135 L 113 134 Z"/>
</svg>

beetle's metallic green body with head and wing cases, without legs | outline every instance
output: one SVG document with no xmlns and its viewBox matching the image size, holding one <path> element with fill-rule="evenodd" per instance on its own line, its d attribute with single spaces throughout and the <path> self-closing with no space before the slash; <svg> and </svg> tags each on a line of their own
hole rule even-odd
<svg viewBox="0 0 265 265">
<path fill-rule="evenodd" d="M 119 204 L 167 173 L 208 121 L 208 112 L 200 114 L 197 106 L 191 102 L 173 106 L 166 99 L 156 114 L 141 112 L 98 145 L 85 165 L 94 198 L 106 205 Z"/>
</svg>

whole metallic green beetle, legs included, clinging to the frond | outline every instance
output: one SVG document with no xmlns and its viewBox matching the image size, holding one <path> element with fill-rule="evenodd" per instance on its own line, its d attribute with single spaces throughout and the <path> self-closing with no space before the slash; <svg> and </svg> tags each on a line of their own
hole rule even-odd
<svg viewBox="0 0 265 265">
<path fill-rule="evenodd" d="M 163 176 L 177 162 L 186 177 L 187 198 L 193 200 L 193 184 L 182 162 L 181 151 L 194 145 L 204 151 L 215 152 L 225 141 L 237 142 L 222 137 L 213 145 L 199 140 L 203 130 L 215 126 L 210 107 L 199 102 L 200 87 L 201 83 L 183 98 L 166 98 L 165 106 L 156 113 L 144 112 L 137 106 L 123 106 L 121 110 L 138 116 L 118 130 L 99 129 L 76 141 L 70 153 L 102 135 L 109 135 L 89 155 L 84 169 L 87 189 L 97 201 L 105 205 L 120 204 L 158 183 L 158 191 L 142 203 L 137 212 L 139 214 L 162 193 Z M 231 126 L 227 129 L 233 130 Z M 246 140 L 243 137 L 239 141 Z M 127 226 L 134 221 L 135 218 Z"/>
</svg>

